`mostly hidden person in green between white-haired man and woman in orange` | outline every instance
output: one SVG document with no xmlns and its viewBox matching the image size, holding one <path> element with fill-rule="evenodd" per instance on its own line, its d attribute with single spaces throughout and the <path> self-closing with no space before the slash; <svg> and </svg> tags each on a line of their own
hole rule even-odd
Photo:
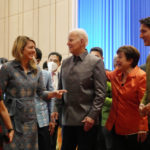
<svg viewBox="0 0 150 150">
<path fill-rule="evenodd" d="M 103 50 L 100 47 L 93 47 L 90 50 L 90 53 L 103 58 Z M 105 128 L 106 121 L 108 119 L 108 115 L 110 112 L 112 104 L 112 92 L 111 92 L 111 83 L 107 81 L 106 87 L 106 98 L 102 107 L 102 111 L 100 113 L 100 122 L 98 126 L 98 134 L 97 134 L 97 150 L 111 150 L 112 149 L 112 135 L 111 132 Z"/>
</svg>

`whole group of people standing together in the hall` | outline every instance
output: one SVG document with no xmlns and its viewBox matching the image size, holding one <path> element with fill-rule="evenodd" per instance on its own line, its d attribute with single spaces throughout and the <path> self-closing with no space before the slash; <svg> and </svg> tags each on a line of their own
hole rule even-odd
<svg viewBox="0 0 150 150">
<path fill-rule="evenodd" d="M 150 17 L 140 24 L 140 38 L 150 46 Z M 14 60 L 0 58 L 1 149 L 150 148 L 150 55 L 139 67 L 139 51 L 123 45 L 110 71 L 103 50 L 93 47 L 88 53 L 87 44 L 85 30 L 70 31 L 72 56 L 61 64 L 61 54 L 51 52 L 42 69 L 35 41 L 16 38 Z"/>
</svg>

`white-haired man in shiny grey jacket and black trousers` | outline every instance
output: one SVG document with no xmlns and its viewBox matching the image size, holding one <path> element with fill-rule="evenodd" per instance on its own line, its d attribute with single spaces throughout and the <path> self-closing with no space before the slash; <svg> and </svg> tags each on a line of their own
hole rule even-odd
<svg viewBox="0 0 150 150">
<path fill-rule="evenodd" d="M 102 60 L 88 54 L 88 36 L 82 29 L 69 33 L 73 56 L 62 63 L 59 88 L 66 89 L 62 104 L 62 150 L 94 150 L 99 112 L 102 108 L 106 76 Z M 55 113 L 54 113 L 55 115 Z"/>
</svg>

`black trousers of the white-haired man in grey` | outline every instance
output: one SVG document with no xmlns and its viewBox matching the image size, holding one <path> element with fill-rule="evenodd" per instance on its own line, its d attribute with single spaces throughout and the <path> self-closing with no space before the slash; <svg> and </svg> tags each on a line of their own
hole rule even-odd
<svg viewBox="0 0 150 150">
<path fill-rule="evenodd" d="M 85 132 L 83 126 L 62 127 L 61 150 L 94 150 L 96 146 L 97 126 Z"/>
</svg>

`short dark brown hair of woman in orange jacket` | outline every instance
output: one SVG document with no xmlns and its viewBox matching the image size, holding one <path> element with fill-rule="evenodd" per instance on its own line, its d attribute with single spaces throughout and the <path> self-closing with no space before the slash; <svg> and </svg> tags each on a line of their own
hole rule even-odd
<svg viewBox="0 0 150 150">
<path fill-rule="evenodd" d="M 140 53 L 135 47 L 121 46 L 117 50 L 117 54 L 119 54 L 120 52 L 123 52 L 125 54 L 127 60 L 133 59 L 133 62 L 131 64 L 132 68 L 134 68 L 138 64 Z"/>
</svg>

